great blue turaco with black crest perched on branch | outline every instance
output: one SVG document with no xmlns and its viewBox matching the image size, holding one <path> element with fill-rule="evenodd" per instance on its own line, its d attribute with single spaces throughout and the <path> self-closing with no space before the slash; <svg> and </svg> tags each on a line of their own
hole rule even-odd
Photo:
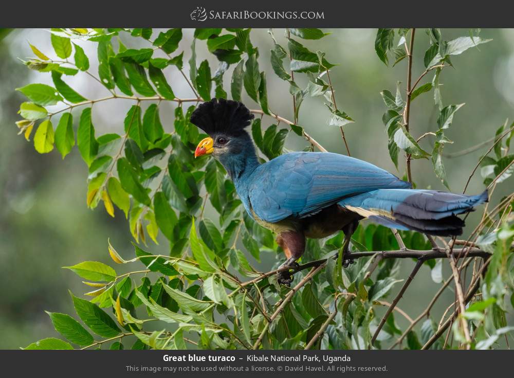
<svg viewBox="0 0 514 378">
<path fill-rule="evenodd" d="M 487 190 L 464 195 L 413 189 L 384 169 L 337 153 L 290 152 L 261 163 L 245 130 L 253 117 L 239 101 L 213 98 L 201 103 L 190 121 L 209 136 L 198 143 L 194 156 L 217 159 L 248 214 L 277 234 L 286 256 L 281 265 L 285 269 L 277 274 L 279 283 L 292 282 L 289 269 L 298 268 L 306 238 L 326 238 L 342 230 L 346 255 L 363 219 L 453 237 L 461 235 L 465 225 L 457 214 L 488 201 Z"/>
</svg>

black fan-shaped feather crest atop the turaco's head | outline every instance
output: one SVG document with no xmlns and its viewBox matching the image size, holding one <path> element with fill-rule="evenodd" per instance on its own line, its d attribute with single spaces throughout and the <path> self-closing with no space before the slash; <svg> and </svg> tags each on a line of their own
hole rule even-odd
<svg viewBox="0 0 514 378">
<path fill-rule="evenodd" d="M 252 119 L 253 114 L 245 105 L 224 98 L 204 102 L 191 115 L 191 123 L 209 135 L 240 135 Z"/>
</svg>

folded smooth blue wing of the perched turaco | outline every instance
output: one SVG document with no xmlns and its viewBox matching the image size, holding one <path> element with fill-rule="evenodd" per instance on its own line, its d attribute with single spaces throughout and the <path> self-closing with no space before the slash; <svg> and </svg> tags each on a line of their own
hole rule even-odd
<svg viewBox="0 0 514 378">
<path fill-rule="evenodd" d="M 248 200 L 266 222 L 307 217 L 350 195 L 410 184 L 365 161 L 329 152 L 293 152 L 260 165 Z"/>
</svg>

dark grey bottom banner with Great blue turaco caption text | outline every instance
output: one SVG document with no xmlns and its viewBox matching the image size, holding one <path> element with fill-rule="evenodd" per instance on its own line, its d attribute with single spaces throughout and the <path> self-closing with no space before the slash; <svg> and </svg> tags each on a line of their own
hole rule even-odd
<svg viewBox="0 0 514 378">
<path fill-rule="evenodd" d="M 3 376 L 481 376 L 511 351 L 2 351 Z"/>
</svg>

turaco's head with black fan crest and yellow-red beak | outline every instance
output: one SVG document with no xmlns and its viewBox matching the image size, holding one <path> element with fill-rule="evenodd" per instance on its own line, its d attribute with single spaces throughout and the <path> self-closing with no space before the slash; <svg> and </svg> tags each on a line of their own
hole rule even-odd
<svg viewBox="0 0 514 378">
<path fill-rule="evenodd" d="M 205 131 L 209 137 L 202 139 L 194 156 L 212 154 L 220 159 L 236 156 L 249 148 L 249 136 L 245 128 L 253 114 L 241 102 L 212 99 L 199 105 L 191 115 L 191 123 Z"/>
</svg>

